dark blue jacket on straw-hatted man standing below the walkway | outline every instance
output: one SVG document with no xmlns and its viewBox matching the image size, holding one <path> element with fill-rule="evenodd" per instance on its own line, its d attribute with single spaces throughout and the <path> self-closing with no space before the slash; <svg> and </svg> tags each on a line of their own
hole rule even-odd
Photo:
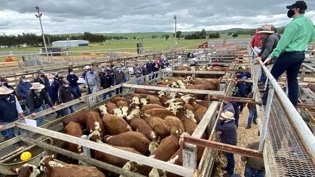
<svg viewBox="0 0 315 177">
<path fill-rule="evenodd" d="M 216 123 L 216 131 L 221 131 L 220 139 L 222 143 L 229 145 L 237 144 L 237 132 L 234 120 L 218 119 Z"/>
</svg>

